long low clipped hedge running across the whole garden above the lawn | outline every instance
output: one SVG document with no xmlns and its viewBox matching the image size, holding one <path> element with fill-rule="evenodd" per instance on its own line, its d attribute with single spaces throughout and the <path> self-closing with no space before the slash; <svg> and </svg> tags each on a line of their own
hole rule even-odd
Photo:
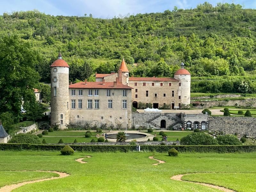
<svg viewBox="0 0 256 192">
<path fill-rule="evenodd" d="M 132 145 L 70 145 L 76 151 L 87 152 L 129 152 L 135 151 Z M 19 143 L 0 143 L 0 150 L 43 150 L 60 151 L 64 145 L 37 145 Z M 198 153 L 234 153 L 234 152 L 253 152 L 256 145 L 141 145 L 142 151 L 156 151 L 166 153 L 169 149 L 175 148 L 179 152 L 198 152 Z"/>
</svg>

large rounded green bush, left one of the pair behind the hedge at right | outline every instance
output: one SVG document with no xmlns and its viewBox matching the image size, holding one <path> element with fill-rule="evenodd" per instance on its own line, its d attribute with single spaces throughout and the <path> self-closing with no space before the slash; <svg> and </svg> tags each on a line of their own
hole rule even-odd
<svg viewBox="0 0 256 192">
<path fill-rule="evenodd" d="M 218 141 L 204 132 L 194 132 L 182 137 L 180 145 L 218 145 Z"/>
</svg>

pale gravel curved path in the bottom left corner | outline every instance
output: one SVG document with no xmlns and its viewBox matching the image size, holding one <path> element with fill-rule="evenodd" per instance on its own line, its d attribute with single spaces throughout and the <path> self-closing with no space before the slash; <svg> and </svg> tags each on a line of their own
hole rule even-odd
<svg viewBox="0 0 256 192">
<path fill-rule="evenodd" d="M 13 189 L 16 189 L 18 187 L 21 187 L 21 186 L 29 184 L 29 183 L 36 183 L 36 182 L 41 182 L 41 181 L 53 180 L 53 179 L 61 179 L 61 178 L 69 176 L 68 173 L 63 173 L 63 172 L 58 172 L 58 171 L 36 171 L 36 172 L 57 173 L 59 175 L 59 177 L 51 177 L 51 178 L 46 178 L 46 179 L 39 179 L 39 180 L 33 180 L 33 181 L 25 181 L 25 182 L 18 183 L 18 184 L 5 185 L 4 187 L 0 188 L 0 192 L 9 192 L 9 191 L 12 191 Z"/>
</svg>

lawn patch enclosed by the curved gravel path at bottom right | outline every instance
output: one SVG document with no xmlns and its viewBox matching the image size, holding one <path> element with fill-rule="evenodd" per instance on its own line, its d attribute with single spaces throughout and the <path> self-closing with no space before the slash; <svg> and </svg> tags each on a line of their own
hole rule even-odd
<svg viewBox="0 0 256 192">
<path fill-rule="evenodd" d="M 182 180 L 219 185 L 235 191 L 255 192 L 256 189 L 256 173 L 196 173 L 184 175 Z"/>
</svg>

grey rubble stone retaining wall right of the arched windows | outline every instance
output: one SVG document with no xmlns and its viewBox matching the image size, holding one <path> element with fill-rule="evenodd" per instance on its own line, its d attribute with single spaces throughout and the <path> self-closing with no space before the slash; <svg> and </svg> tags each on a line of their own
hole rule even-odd
<svg viewBox="0 0 256 192">
<path fill-rule="evenodd" d="M 256 118 L 253 117 L 209 117 L 209 131 L 256 137 Z"/>
</svg>

